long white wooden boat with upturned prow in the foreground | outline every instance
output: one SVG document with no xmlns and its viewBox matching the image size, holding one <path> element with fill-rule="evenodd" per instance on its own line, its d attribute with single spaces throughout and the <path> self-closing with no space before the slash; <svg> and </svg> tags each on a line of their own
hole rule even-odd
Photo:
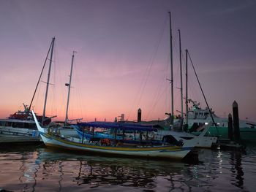
<svg viewBox="0 0 256 192">
<path fill-rule="evenodd" d="M 104 155 L 121 155 L 129 157 L 144 157 L 144 158 L 171 158 L 182 159 L 188 155 L 195 147 L 197 137 L 190 140 L 180 140 L 179 145 L 174 145 L 169 142 L 162 142 L 161 145 L 123 145 L 120 142 L 109 142 L 108 145 L 102 145 L 99 141 L 81 141 L 81 139 L 65 138 L 59 135 L 51 134 L 47 128 L 42 128 L 36 115 L 32 111 L 34 120 L 36 122 L 39 134 L 42 141 L 47 147 L 56 147 L 66 150 L 76 150 L 87 153 L 99 153 Z M 110 126 L 113 127 L 113 124 Z M 126 129 L 140 130 L 140 126 L 127 126 Z M 147 129 L 150 131 L 149 129 Z"/>
</svg>

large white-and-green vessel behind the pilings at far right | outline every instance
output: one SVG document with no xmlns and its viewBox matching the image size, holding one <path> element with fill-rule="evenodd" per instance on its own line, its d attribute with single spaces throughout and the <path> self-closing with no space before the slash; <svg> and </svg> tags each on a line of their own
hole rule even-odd
<svg viewBox="0 0 256 192">
<path fill-rule="evenodd" d="M 188 128 L 192 134 L 199 134 L 200 126 L 208 124 L 211 121 L 210 111 L 208 108 L 202 109 L 200 103 L 189 99 L 192 107 L 189 107 L 188 113 Z M 228 139 L 228 119 L 220 118 L 211 110 L 211 114 L 217 126 L 210 126 L 207 135 L 212 137 L 220 137 Z M 239 120 L 240 137 L 244 142 L 256 142 L 256 123 L 249 120 Z"/>
</svg>

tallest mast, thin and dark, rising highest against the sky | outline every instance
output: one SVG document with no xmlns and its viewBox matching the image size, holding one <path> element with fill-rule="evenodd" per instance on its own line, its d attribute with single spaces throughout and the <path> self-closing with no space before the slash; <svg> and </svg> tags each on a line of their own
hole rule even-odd
<svg viewBox="0 0 256 192">
<path fill-rule="evenodd" d="M 169 12 L 169 18 L 170 18 L 170 95 L 171 95 L 171 124 L 173 125 L 173 36 L 172 36 L 172 22 Z"/>
</svg>

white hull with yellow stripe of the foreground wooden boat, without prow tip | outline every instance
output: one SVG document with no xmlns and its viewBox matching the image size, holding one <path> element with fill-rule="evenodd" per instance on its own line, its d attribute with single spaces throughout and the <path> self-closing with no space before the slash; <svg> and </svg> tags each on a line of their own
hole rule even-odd
<svg viewBox="0 0 256 192">
<path fill-rule="evenodd" d="M 108 155 L 128 155 L 146 158 L 184 158 L 192 147 L 157 146 L 157 147 L 110 147 L 81 144 L 67 139 L 53 137 L 49 134 L 40 133 L 43 142 L 48 147 L 59 147 L 67 150 L 78 150 L 91 153 L 102 153 Z"/>
</svg>

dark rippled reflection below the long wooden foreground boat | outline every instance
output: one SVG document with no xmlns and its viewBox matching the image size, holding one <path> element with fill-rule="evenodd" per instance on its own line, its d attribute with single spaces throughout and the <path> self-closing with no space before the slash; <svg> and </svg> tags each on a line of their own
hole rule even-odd
<svg viewBox="0 0 256 192">
<path fill-rule="evenodd" d="M 166 177 L 165 180 L 172 181 L 170 174 L 191 177 L 192 172 L 181 173 L 182 163 L 170 164 L 168 161 L 149 161 L 145 159 L 105 158 L 102 156 L 80 156 L 67 153 L 58 155 L 52 150 L 40 150 L 37 161 L 42 161 L 46 172 L 53 172 L 53 166 L 58 164 L 55 159 L 69 161 L 72 167 L 61 167 L 61 183 L 64 173 L 75 174 L 73 180 L 77 185 L 90 185 L 96 188 L 102 185 L 120 185 L 138 188 L 157 188 L 157 177 Z M 60 164 L 59 164 L 60 165 Z M 59 170 L 60 171 L 60 170 Z M 169 177 L 169 178 L 168 178 Z"/>
</svg>

